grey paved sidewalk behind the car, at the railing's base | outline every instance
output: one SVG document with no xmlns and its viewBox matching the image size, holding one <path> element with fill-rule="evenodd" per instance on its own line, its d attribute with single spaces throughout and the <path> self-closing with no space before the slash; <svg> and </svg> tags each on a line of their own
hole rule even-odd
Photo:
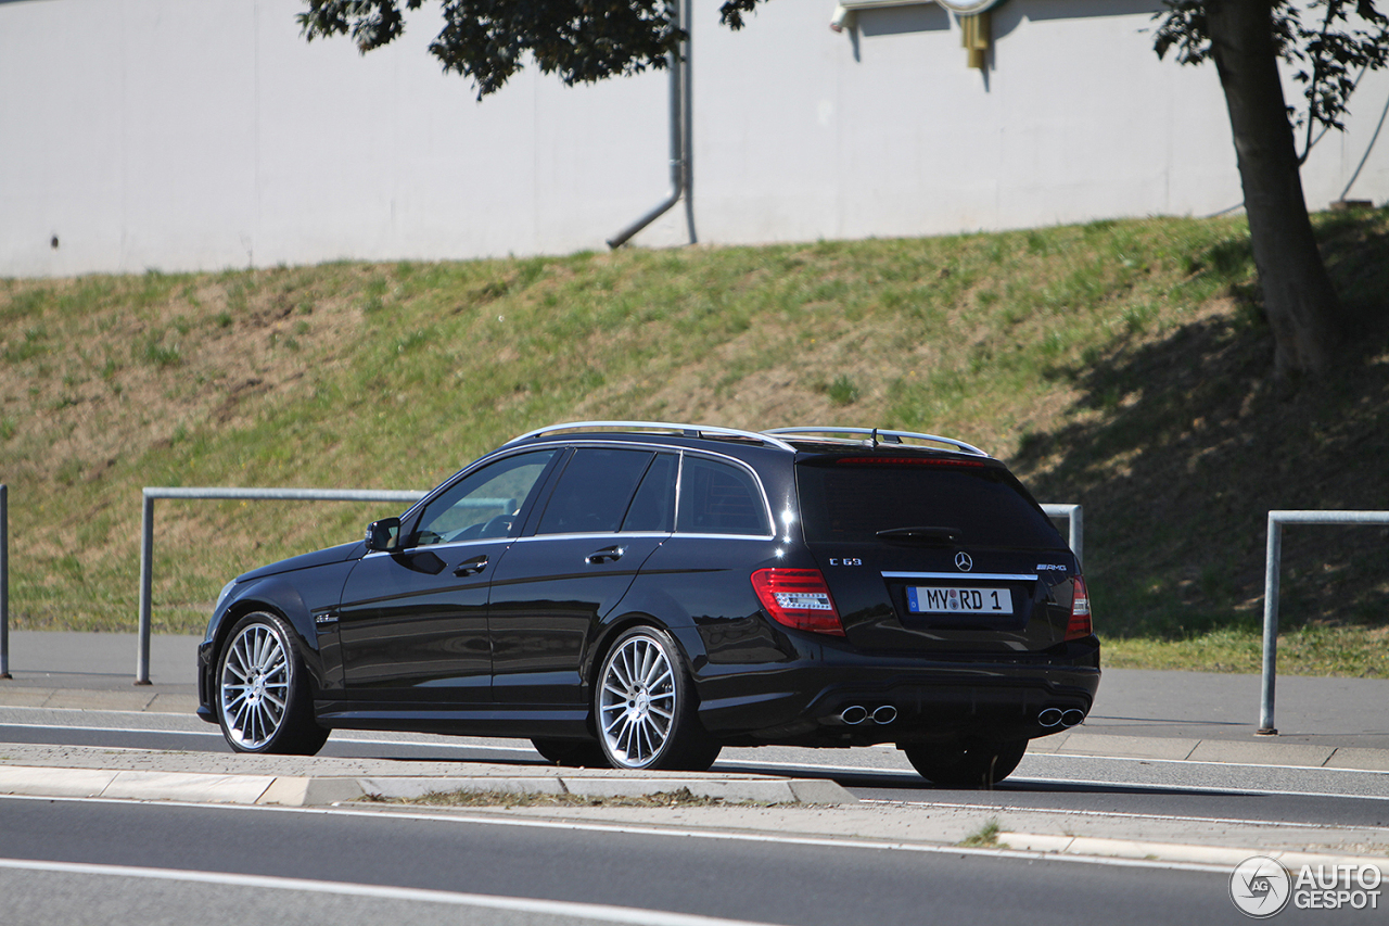
<svg viewBox="0 0 1389 926">
<path fill-rule="evenodd" d="M 0 705 L 192 712 L 199 641 L 156 634 L 153 684 L 136 687 L 135 634 L 11 631 L 14 679 L 0 680 Z M 1389 772 L 1389 680 L 1279 677 L 1276 737 L 1254 736 L 1260 688 L 1258 676 L 1106 669 L 1085 724 L 1038 740 L 1032 751 L 1093 754 L 1104 737 L 1106 748 L 1156 759 L 1325 765 L 1339 754 L 1354 756 L 1346 767 Z"/>
</svg>

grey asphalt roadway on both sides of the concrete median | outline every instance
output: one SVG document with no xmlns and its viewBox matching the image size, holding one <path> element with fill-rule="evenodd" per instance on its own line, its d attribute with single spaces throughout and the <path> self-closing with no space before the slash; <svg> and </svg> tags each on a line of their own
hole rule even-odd
<svg viewBox="0 0 1389 926">
<path fill-rule="evenodd" d="M 196 717 L 0 708 L 0 742 L 226 752 Z M 333 734 L 326 755 L 540 765 L 524 741 Z M 895 749 L 728 749 L 717 770 L 832 777 L 856 797 L 960 809 L 1389 825 L 1389 774 L 1029 755 L 999 790 L 950 791 Z M 629 827 L 400 808 L 0 798 L 10 923 L 1240 923 L 1225 866 L 1040 859 L 892 840 Z M 1278 922 L 1382 922 L 1299 911 Z M 714 926 L 703 920 L 706 926 Z"/>
</svg>

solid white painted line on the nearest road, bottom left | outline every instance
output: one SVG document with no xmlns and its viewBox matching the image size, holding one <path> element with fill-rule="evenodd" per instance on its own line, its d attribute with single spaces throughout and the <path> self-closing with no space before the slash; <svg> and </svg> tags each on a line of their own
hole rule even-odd
<svg viewBox="0 0 1389 926">
<path fill-rule="evenodd" d="M 299 877 L 267 877 L 260 875 L 228 875 L 224 872 L 190 872 L 171 868 L 133 868 L 128 865 L 89 865 L 76 862 L 43 862 L 0 858 L 0 868 L 25 872 L 56 872 L 64 875 L 92 875 L 100 877 L 136 877 L 163 882 L 192 882 L 197 884 L 219 884 L 231 887 L 251 887 L 258 890 L 283 890 L 310 894 L 339 894 L 346 897 L 367 897 L 372 900 L 410 901 L 417 904 L 449 904 L 453 907 L 481 907 L 524 913 L 544 913 L 550 916 L 571 916 L 604 923 L 636 923 L 646 926 L 767 926 L 743 919 L 722 919 L 693 913 L 672 913 L 635 907 L 611 907 L 607 904 L 581 904 L 575 901 L 547 901 L 526 897 L 497 897 L 493 894 L 463 894 L 456 891 L 435 891 L 414 887 L 385 887 L 381 884 L 353 884 L 347 882 L 319 882 Z"/>
</svg>

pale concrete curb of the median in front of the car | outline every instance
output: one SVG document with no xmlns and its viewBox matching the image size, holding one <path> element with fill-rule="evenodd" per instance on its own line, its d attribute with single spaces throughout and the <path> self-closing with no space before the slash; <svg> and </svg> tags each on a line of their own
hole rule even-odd
<svg viewBox="0 0 1389 926">
<path fill-rule="evenodd" d="M 203 774 L 196 772 L 107 772 L 46 766 L 0 766 L 0 794 L 90 797 L 207 804 L 315 806 L 363 797 L 418 798 L 426 794 L 501 793 L 646 797 L 688 788 L 694 797 L 760 804 L 857 804 L 833 781 L 765 776 L 485 776 L 485 777 L 313 777 L 289 774 Z"/>
</svg>

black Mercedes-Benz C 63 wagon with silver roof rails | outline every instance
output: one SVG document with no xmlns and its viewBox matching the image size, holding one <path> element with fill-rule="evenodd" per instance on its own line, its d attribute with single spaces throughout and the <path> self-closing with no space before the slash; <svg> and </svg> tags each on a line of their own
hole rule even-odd
<svg viewBox="0 0 1389 926">
<path fill-rule="evenodd" d="M 1075 556 L 968 444 L 600 421 L 229 583 L 199 715 L 243 752 L 413 730 L 621 769 L 895 742 L 981 786 L 1085 719 L 1099 653 Z"/>
</svg>

